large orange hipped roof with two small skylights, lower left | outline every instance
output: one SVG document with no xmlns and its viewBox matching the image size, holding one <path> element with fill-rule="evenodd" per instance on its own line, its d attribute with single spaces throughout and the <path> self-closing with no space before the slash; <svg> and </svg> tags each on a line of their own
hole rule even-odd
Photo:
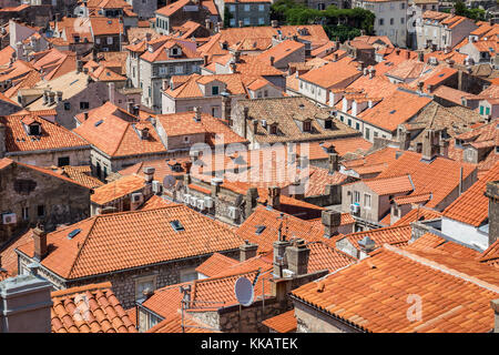
<svg viewBox="0 0 499 355">
<path fill-rule="evenodd" d="M 176 232 L 170 222 L 180 221 Z M 80 229 L 73 239 L 71 231 Z M 235 250 L 242 240 L 183 205 L 95 215 L 49 233 L 42 266 L 64 278 L 79 278 L 172 260 Z M 33 256 L 33 244 L 18 248 Z"/>
</svg>

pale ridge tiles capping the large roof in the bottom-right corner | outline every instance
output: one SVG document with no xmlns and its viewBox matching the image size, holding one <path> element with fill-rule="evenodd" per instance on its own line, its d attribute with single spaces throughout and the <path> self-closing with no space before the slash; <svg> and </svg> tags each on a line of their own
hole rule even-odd
<svg viewBox="0 0 499 355">
<path fill-rule="evenodd" d="M 389 245 L 387 243 L 383 244 L 383 247 L 385 250 L 389 251 L 389 252 L 398 254 L 398 255 L 400 255 L 403 257 L 407 257 L 407 258 L 409 258 L 409 260 L 411 260 L 411 261 L 414 261 L 416 263 L 419 263 L 419 264 L 421 264 L 424 266 L 437 270 L 437 271 L 439 271 L 439 272 L 441 272 L 444 274 L 448 274 L 448 275 L 454 276 L 456 278 L 461 278 L 461 280 L 464 280 L 466 282 L 470 282 L 470 283 L 475 284 L 478 287 L 481 287 L 481 288 L 485 288 L 487 291 L 490 291 L 490 292 L 499 294 L 499 286 L 493 285 L 491 283 L 488 283 L 486 281 L 482 281 L 482 280 L 480 280 L 480 278 L 478 278 L 476 276 L 468 275 L 468 274 L 466 274 L 464 272 L 459 272 L 459 271 L 457 271 L 457 270 L 455 270 L 452 267 L 442 265 L 442 264 L 440 264 L 438 262 L 428 260 L 428 258 L 426 258 L 424 256 L 419 256 L 419 255 L 413 254 L 413 253 L 410 253 L 410 252 L 408 252 L 406 250 L 401 250 L 399 247 Z"/>
</svg>

